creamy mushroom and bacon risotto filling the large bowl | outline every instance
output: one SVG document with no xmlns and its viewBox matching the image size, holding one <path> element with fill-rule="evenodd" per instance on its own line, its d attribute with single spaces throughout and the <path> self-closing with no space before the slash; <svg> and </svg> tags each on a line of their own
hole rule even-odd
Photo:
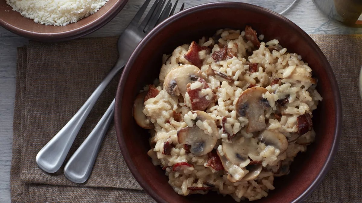
<svg viewBox="0 0 362 203">
<path fill-rule="evenodd" d="M 218 30 L 163 56 L 134 103 L 150 129 L 154 165 L 180 195 L 216 191 L 237 202 L 268 196 L 315 132 L 322 100 L 312 69 L 250 26 Z M 282 42 L 281 42 L 282 43 Z"/>
</svg>

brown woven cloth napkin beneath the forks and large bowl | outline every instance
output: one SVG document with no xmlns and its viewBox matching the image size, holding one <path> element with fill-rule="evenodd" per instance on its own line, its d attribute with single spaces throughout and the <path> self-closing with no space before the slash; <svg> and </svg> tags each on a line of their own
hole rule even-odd
<svg viewBox="0 0 362 203">
<path fill-rule="evenodd" d="M 333 165 L 305 202 L 361 202 L 362 101 L 358 76 L 362 35 L 311 35 L 332 65 L 343 104 L 341 143 Z M 154 202 L 132 177 L 111 124 L 87 182 L 43 172 L 39 150 L 69 121 L 113 67 L 117 37 L 71 42 L 29 41 L 18 48 L 14 105 L 12 202 Z M 77 136 L 70 155 L 92 131 L 115 96 L 119 75 L 106 88 Z M 66 160 L 67 160 L 66 159 Z M 175 193 L 176 195 L 176 193 Z"/>
</svg>

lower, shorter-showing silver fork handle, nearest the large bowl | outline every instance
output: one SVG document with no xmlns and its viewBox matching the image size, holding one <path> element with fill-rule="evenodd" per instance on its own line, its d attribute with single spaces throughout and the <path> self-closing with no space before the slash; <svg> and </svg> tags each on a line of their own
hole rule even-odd
<svg viewBox="0 0 362 203">
<path fill-rule="evenodd" d="M 64 175 L 72 182 L 84 183 L 88 179 L 104 135 L 108 130 L 109 124 L 113 120 L 114 100 L 115 99 L 113 99 L 113 102 L 110 104 L 96 127 L 74 152 L 64 167 Z"/>
</svg>

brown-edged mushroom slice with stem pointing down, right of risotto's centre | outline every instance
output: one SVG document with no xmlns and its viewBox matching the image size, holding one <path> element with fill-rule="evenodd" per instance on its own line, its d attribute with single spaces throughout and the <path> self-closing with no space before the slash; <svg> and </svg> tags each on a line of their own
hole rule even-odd
<svg viewBox="0 0 362 203">
<path fill-rule="evenodd" d="M 270 105 L 262 94 L 267 91 L 264 87 L 251 87 L 246 89 L 237 100 L 237 115 L 246 116 L 249 120 L 247 133 L 260 131 L 266 127 L 264 110 L 270 108 Z"/>
</svg>

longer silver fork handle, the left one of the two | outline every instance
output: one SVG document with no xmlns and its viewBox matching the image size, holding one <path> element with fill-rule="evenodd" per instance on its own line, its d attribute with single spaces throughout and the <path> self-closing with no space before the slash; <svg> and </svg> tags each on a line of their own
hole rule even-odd
<svg viewBox="0 0 362 203">
<path fill-rule="evenodd" d="M 126 61 L 117 61 L 114 68 L 110 70 L 108 75 L 98 85 L 78 112 L 75 113 L 71 120 L 38 152 L 36 162 L 41 169 L 48 173 L 55 173 L 59 170 L 89 112 L 114 75 L 116 75 L 125 64 Z"/>
</svg>

